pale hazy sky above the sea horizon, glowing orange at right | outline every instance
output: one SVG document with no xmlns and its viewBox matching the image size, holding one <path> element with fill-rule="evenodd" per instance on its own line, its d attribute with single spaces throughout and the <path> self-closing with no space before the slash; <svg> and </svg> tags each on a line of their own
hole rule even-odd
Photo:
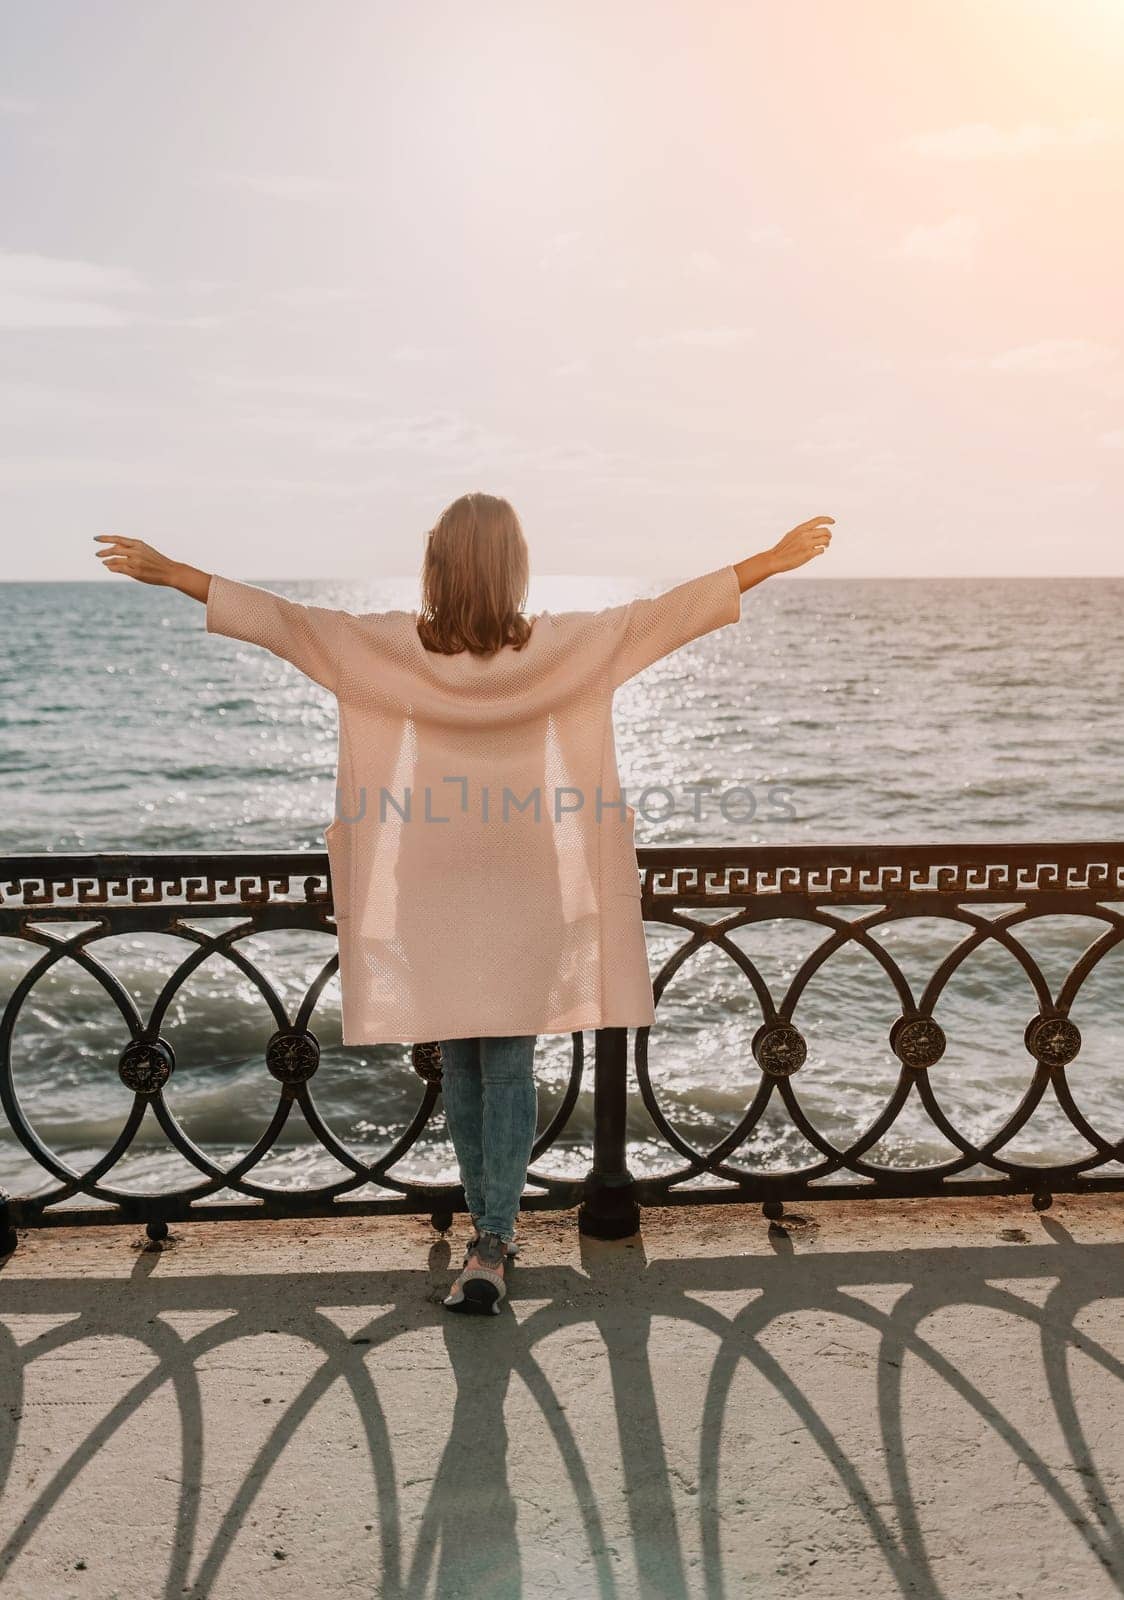
<svg viewBox="0 0 1124 1600">
<path fill-rule="evenodd" d="M 5 578 L 1124 573 L 1124 0 L 0 6 Z"/>
</svg>

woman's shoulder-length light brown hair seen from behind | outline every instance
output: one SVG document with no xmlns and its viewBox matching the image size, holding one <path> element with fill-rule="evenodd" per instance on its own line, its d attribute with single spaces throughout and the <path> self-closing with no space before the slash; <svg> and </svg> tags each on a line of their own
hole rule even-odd
<svg viewBox="0 0 1124 1600">
<path fill-rule="evenodd" d="M 532 624 L 530 562 L 514 507 L 496 494 L 461 494 L 426 534 L 418 637 L 426 650 L 490 656 L 522 650 Z"/>
</svg>

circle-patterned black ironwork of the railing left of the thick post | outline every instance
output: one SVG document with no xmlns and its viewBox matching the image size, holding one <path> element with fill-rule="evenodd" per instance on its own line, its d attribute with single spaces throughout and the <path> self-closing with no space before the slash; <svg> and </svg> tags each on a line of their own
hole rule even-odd
<svg viewBox="0 0 1124 1600">
<path fill-rule="evenodd" d="M 197 874 L 197 880 L 189 874 L 181 874 L 170 867 L 168 877 L 157 878 L 155 882 L 151 878 L 133 878 L 128 872 L 122 874 L 120 858 L 109 859 L 112 861 L 112 867 L 104 869 L 102 875 L 96 877 L 90 885 L 82 878 L 66 874 L 53 877 L 56 862 L 50 858 L 46 862 L 40 862 L 40 872 L 34 882 L 27 882 L 26 875 L 13 882 L 13 875 L 5 872 L 5 866 L 10 866 L 10 862 L 0 862 L 0 938 L 16 938 L 38 947 L 37 960 L 32 962 L 6 995 L 3 1011 L 0 1013 L 0 1104 L 3 1106 L 10 1130 L 19 1139 L 24 1150 L 56 1179 L 54 1187 L 18 1200 L 21 1214 L 37 1216 L 74 1195 L 86 1195 L 91 1200 L 107 1202 L 122 1208 L 123 1214 L 136 1214 L 138 1206 L 154 1203 L 159 1210 L 175 1216 L 184 1214 L 200 1200 L 227 1190 L 247 1200 L 266 1202 L 271 1206 L 296 1206 L 314 1211 L 331 1206 L 339 1197 L 346 1197 L 355 1189 L 376 1184 L 391 1190 L 387 1203 L 395 1210 L 402 1210 L 403 1203 L 411 1210 L 429 1210 L 439 1227 L 448 1227 L 452 1222 L 448 1203 L 456 1194 L 458 1184 L 415 1181 L 399 1176 L 394 1171 L 395 1165 L 410 1152 L 434 1115 L 440 1094 L 440 1072 L 421 1086 L 421 1102 L 416 1106 L 410 1125 L 392 1139 L 389 1149 L 384 1149 L 373 1160 L 360 1157 L 331 1130 L 312 1098 L 312 1078 L 320 1067 L 322 1051 L 317 1035 L 309 1027 L 309 1021 L 315 1013 L 323 989 L 338 970 L 338 954 L 333 954 L 323 963 L 296 1002 L 295 1011 L 288 1014 L 269 978 L 250 954 L 240 947 L 253 938 L 259 925 L 267 925 L 271 930 L 295 928 L 333 934 L 335 926 L 325 914 L 325 906 L 330 906 L 330 901 L 325 901 L 323 894 L 325 878 L 303 870 L 304 862 L 299 854 L 271 858 L 274 862 L 272 870 L 263 869 L 259 872 L 234 870 L 224 867 L 221 858 L 219 861 L 203 858 L 205 866 Z M 288 914 L 283 914 L 279 904 L 274 902 L 272 894 L 277 890 L 280 898 L 280 891 L 288 890 L 290 880 L 296 874 L 301 874 L 298 882 L 301 883 L 304 898 L 288 902 Z M 114 899 L 114 893 L 118 890 L 128 893 L 126 901 L 117 902 Z M 13 891 L 24 901 L 24 910 L 11 910 Z M 203 914 L 221 914 L 227 920 L 240 917 L 237 925 L 224 928 L 221 933 L 202 931 L 199 926 L 194 926 L 192 912 L 195 907 L 181 902 L 183 896 L 191 901 L 192 891 L 199 894 Z M 165 893 L 175 894 L 178 902 L 167 907 L 162 906 Z M 235 896 L 232 904 L 226 904 L 229 896 Z M 64 914 L 61 917 L 56 909 L 53 915 L 43 918 L 38 914 L 42 904 L 56 899 L 58 902 L 77 901 L 78 904 L 67 907 L 69 915 Z M 91 910 L 90 907 L 98 909 Z M 189 917 L 192 918 L 191 922 L 187 920 Z M 70 918 L 78 925 L 77 933 L 67 926 L 67 920 Z M 131 931 L 170 934 L 189 946 L 189 954 L 165 979 L 147 1016 L 143 1016 L 136 1010 L 131 994 L 120 984 L 114 971 L 102 965 L 96 952 L 99 939 Z M 171 1043 L 160 1035 L 162 1021 L 183 984 L 208 957 L 218 957 L 231 963 L 242 978 L 251 982 L 264 1000 L 274 1019 L 274 1029 L 264 1043 L 263 1064 L 280 1086 L 280 1098 L 272 1117 L 267 1120 L 253 1147 L 226 1166 L 213 1160 L 187 1134 L 163 1093 L 173 1075 L 176 1061 Z M 74 1170 L 43 1144 L 22 1110 L 13 1078 L 13 1035 L 21 1008 L 32 994 L 35 982 L 61 962 L 77 963 L 83 973 L 101 986 L 123 1018 L 130 1034 L 128 1043 L 120 1051 L 117 1072 L 122 1083 L 134 1094 L 133 1107 L 110 1147 L 85 1171 Z M 570 1070 L 562 1099 L 549 1125 L 535 1141 L 532 1162 L 554 1144 L 565 1126 L 581 1091 L 583 1072 L 583 1037 L 581 1034 L 573 1034 L 570 1037 Z M 155 1194 L 138 1194 L 136 1190 L 118 1189 L 106 1181 L 106 1174 L 130 1150 L 149 1106 L 168 1144 L 199 1171 L 200 1181 L 194 1186 Z M 274 1149 L 282 1128 L 293 1112 L 303 1114 L 312 1138 L 344 1168 L 343 1178 L 314 1189 L 299 1190 L 287 1189 L 280 1184 L 253 1181 L 251 1174 L 255 1168 Z M 581 1187 L 573 1179 L 538 1173 L 533 1165 L 528 1179 L 548 1198 L 557 1197 L 559 1205 L 573 1203 L 575 1189 Z M 5 1205 L 6 1200 L 0 1190 L 0 1232 L 3 1230 L 3 1219 L 8 1214 Z M 370 1202 L 370 1205 L 378 1205 L 378 1202 Z M 205 1214 L 205 1208 L 200 1206 L 199 1214 Z M 149 1222 L 151 1237 L 160 1237 L 160 1230 L 167 1234 L 163 1222 L 155 1219 Z"/>
</svg>

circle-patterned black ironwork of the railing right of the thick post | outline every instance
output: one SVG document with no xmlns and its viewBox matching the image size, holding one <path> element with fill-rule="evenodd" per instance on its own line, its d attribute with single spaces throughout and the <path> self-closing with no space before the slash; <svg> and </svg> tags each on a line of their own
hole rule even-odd
<svg viewBox="0 0 1124 1600">
<path fill-rule="evenodd" d="M 1060 854 L 1065 854 L 1063 846 Z M 658 851 L 669 856 L 672 851 Z M 687 853 L 690 854 L 690 853 Z M 701 851 L 700 851 L 701 854 Z M 829 853 L 825 851 L 825 856 Z M 861 854 L 861 851 L 853 851 Z M 948 853 L 951 858 L 956 851 Z M 1002 858 L 1002 846 L 996 854 Z M 1073 854 L 1079 851 L 1073 848 Z M 908 856 L 908 851 L 903 851 Z M 1124 848 L 1121 850 L 1124 856 Z M 793 872 L 793 880 L 785 882 L 781 870 L 773 874 L 772 888 L 775 898 L 754 896 L 751 885 L 754 874 L 749 867 L 730 870 L 703 872 L 690 867 L 660 867 L 652 870 L 647 880 L 644 912 L 648 922 L 664 926 L 664 931 L 682 933 L 682 941 L 668 954 L 661 968 L 655 974 L 656 1024 L 653 1029 L 640 1029 L 636 1037 L 636 1075 L 640 1094 L 648 1115 L 666 1144 L 684 1157 L 685 1165 L 644 1179 L 645 1203 L 660 1205 L 663 1197 L 676 1192 L 684 1194 L 685 1184 L 701 1174 L 725 1179 L 732 1189 L 753 1186 L 761 1192 L 762 1186 L 773 1186 L 777 1194 L 807 1198 L 817 1187 L 826 1186 L 828 1179 L 850 1174 L 860 1179 L 866 1192 L 893 1194 L 937 1194 L 946 1181 L 954 1179 L 961 1189 L 986 1190 L 993 1173 L 996 1179 L 1017 1182 L 1038 1195 L 1038 1203 L 1049 1203 L 1052 1187 L 1079 1187 L 1086 1174 L 1097 1173 L 1106 1163 L 1124 1160 L 1124 1141 L 1106 1138 L 1098 1133 L 1073 1101 L 1065 1080 L 1065 1067 L 1076 1058 L 1081 1048 L 1081 1032 L 1070 1018 L 1070 1006 L 1078 998 L 1082 982 L 1097 963 L 1118 944 L 1124 941 L 1124 917 L 1114 906 L 1105 906 L 1097 898 L 1111 885 L 1114 898 L 1124 901 L 1124 861 L 1116 866 L 1116 878 L 1110 872 L 1082 869 L 1089 880 L 1089 893 L 1071 890 L 1065 901 L 1055 893 L 1063 878 L 1060 870 L 1052 870 L 1047 878 L 1049 893 L 1041 898 L 1026 896 L 1025 904 L 1018 904 L 1015 893 L 1007 890 L 1006 878 L 1009 869 L 996 867 L 990 872 L 975 894 L 985 901 L 1007 899 L 1017 909 L 1004 910 L 998 915 L 978 915 L 972 907 L 973 893 L 964 886 L 964 872 L 959 866 L 949 866 L 946 872 L 945 891 L 929 888 L 922 893 L 903 891 L 903 882 L 913 874 L 913 867 L 905 861 L 887 869 L 892 883 L 882 902 L 876 901 L 876 883 L 873 878 L 857 885 L 853 869 L 841 869 L 833 882 L 829 867 L 817 869 L 817 893 L 812 893 L 809 878 L 813 869 L 809 866 L 801 872 Z M 764 875 L 764 874 L 762 874 Z M 940 878 L 940 872 L 937 874 Z M 1074 874 L 1076 875 L 1076 874 Z M 831 902 L 853 906 L 847 888 L 858 888 L 853 901 L 874 902 L 857 917 L 833 915 Z M 807 894 L 796 893 L 805 888 Z M 1026 885 L 1023 885 L 1026 888 Z M 959 891 L 959 893 L 957 893 Z M 826 901 L 828 904 L 820 904 Z M 727 906 L 729 915 L 717 920 L 701 920 L 692 915 L 693 907 Z M 861 909 L 861 907 L 860 907 Z M 1074 962 L 1057 995 L 1050 992 L 1046 976 L 1033 954 L 1018 939 L 1018 925 L 1034 915 L 1082 915 L 1094 923 L 1100 923 L 1102 931 L 1094 938 L 1090 947 Z M 964 938 L 938 962 L 933 976 L 924 992 L 914 997 L 901 966 L 890 950 L 873 938 L 873 930 L 881 925 L 898 922 L 908 917 L 943 917 L 962 923 Z M 781 992 L 772 992 L 764 976 L 749 958 L 746 950 L 732 939 L 740 928 L 753 926 L 777 917 L 817 925 L 823 930 L 823 941 L 799 965 L 794 976 Z M 991 1138 L 972 1141 L 959 1131 L 941 1109 L 929 1072 L 935 1067 L 948 1050 L 943 1027 L 932 1016 L 949 978 L 969 958 L 969 955 L 986 941 L 996 941 L 1020 965 L 1033 994 L 1038 997 L 1039 1011 L 1028 1022 L 1025 1032 L 1026 1050 L 1036 1062 L 1033 1080 L 1026 1086 L 1015 1110 L 1007 1115 L 1001 1128 Z M 797 1027 L 799 1002 L 807 984 L 820 966 L 837 950 L 847 946 L 865 949 L 884 970 L 901 1003 L 901 1014 L 889 1032 L 889 1045 L 900 1062 L 900 1075 L 890 1088 L 881 1110 L 868 1126 L 861 1128 L 847 1142 L 836 1142 L 809 1117 L 797 1098 L 796 1074 L 807 1058 L 807 1042 Z M 703 949 L 716 949 L 725 955 L 735 970 L 741 973 L 754 994 L 765 1021 L 759 1026 L 753 1040 L 753 1056 L 761 1067 L 761 1083 L 751 1085 L 749 1104 L 737 1126 L 724 1133 L 709 1149 L 693 1144 L 679 1128 L 672 1126 L 660 1107 L 660 1099 L 650 1074 L 652 1035 L 658 1035 L 660 1005 L 677 973 Z M 781 1018 L 785 1021 L 781 1021 Z M 954 1155 L 935 1165 L 893 1165 L 874 1163 L 866 1158 L 871 1150 L 893 1126 L 911 1093 L 921 1098 L 921 1104 L 929 1115 L 933 1130 L 943 1136 L 954 1149 Z M 1022 1133 L 1031 1115 L 1046 1094 L 1054 1094 L 1065 1118 L 1073 1130 L 1087 1142 L 1089 1154 L 1054 1163 L 1034 1163 L 1006 1155 L 1006 1147 Z M 761 1125 L 767 1107 L 775 1096 L 783 1101 L 788 1120 L 796 1131 L 818 1152 L 818 1160 L 796 1170 L 765 1171 L 751 1170 L 732 1162 L 733 1152 L 740 1150 Z M 965 1176 L 973 1170 L 983 1170 L 985 1176 Z M 1124 1187 L 1116 1173 L 1098 1178 L 1100 1187 Z M 708 1192 L 714 1192 L 713 1186 Z"/>
</svg>

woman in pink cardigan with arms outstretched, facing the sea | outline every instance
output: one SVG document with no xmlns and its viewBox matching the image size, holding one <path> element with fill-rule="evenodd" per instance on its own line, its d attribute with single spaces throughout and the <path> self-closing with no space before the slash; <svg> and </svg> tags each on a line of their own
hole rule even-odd
<svg viewBox="0 0 1124 1600">
<path fill-rule="evenodd" d="M 450 1310 L 498 1312 L 506 1293 L 538 1035 L 655 1021 L 613 693 L 737 622 L 746 589 L 828 549 L 833 520 L 655 598 L 535 616 L 519 518 L 493 494 L 463 494 L 426 534 L 418 611 L 301 605 L 96 534 L 109 571 L 203 602 L 208 632 L 283 656 L 336 698 L 323 838 L 343 1043 L 440 1042 L 476 1224 Z"/>
</svg>

